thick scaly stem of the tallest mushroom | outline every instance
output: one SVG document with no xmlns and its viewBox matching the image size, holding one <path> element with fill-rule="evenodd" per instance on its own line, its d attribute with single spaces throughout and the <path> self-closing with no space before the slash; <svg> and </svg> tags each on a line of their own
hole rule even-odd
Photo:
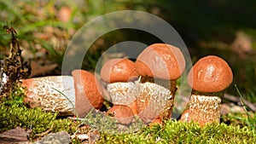
<svg viewBox="0 0 256 144">
<path fill-rule="evenodd" d="M 170 119 L 176 89 L 176 80 L 142 77 L 140 95 L 137 98 L 138 113 L 142 112 L 143 115 L 146 110 L 146 113 L 151 113 L 149 119 Z"/>
</svg>

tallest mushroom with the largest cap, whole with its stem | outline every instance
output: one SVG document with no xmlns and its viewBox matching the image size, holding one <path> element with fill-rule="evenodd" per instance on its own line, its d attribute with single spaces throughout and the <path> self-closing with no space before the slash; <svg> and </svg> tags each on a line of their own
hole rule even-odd
<svg viewBox="0 0 256 144">
<path fill-rule="evenodd" d="M 138 55 L 135 66 L 142 77 L 137 99 L 139 117 L 145 123 L 158 117 L 171 118 L 176 80 L 185 68 L 181 50 L 170 44 L 154 43 Z"/>
</svg>

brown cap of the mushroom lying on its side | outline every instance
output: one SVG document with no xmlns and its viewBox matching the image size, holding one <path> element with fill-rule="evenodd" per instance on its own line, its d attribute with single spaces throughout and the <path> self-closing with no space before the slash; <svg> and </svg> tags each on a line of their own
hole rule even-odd
<svg viewBox="0 0 256 144">
<path fill-rule="evenodd" d="M 75 109 L 79 117 L 86 116 L 95 107 L 100 109 L 103 104 L 102 89 L 96 77 L 87 71 L 74 70 L 72 72 L 75 86 Z"/>
</svg>

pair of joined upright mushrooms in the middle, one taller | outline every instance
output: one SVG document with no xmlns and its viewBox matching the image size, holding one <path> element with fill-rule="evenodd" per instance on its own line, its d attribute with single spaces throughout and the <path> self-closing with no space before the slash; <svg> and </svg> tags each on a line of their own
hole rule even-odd
<svg viewBox="0 0 256 144">
<path fill-rule="evenodd" d="M 155 43 L 144 49 L 135 62 L 108 60 L 102 66 L 101 77 L 108 83 L 108 94 L 114 106 L 130 107 L 143 122 L 150 123 L 157 118 L 171 118 L 176 79 L 184 68 L 180 49 Z"/>
</svg>

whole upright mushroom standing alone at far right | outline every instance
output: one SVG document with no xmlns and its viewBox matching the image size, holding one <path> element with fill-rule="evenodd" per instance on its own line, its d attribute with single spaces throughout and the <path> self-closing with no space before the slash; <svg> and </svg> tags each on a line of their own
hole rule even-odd
<svg viewBox="0 0 256 144">
<path fill-rule="evenodd" d="M 202 126 L 218 122 L 224 89 L 233 81 L 228 63 L 218 56 L 208 55 L 195 63 L 189 72 L 192 87 L 189 101 L 189 120 Z"/>
</svg>

